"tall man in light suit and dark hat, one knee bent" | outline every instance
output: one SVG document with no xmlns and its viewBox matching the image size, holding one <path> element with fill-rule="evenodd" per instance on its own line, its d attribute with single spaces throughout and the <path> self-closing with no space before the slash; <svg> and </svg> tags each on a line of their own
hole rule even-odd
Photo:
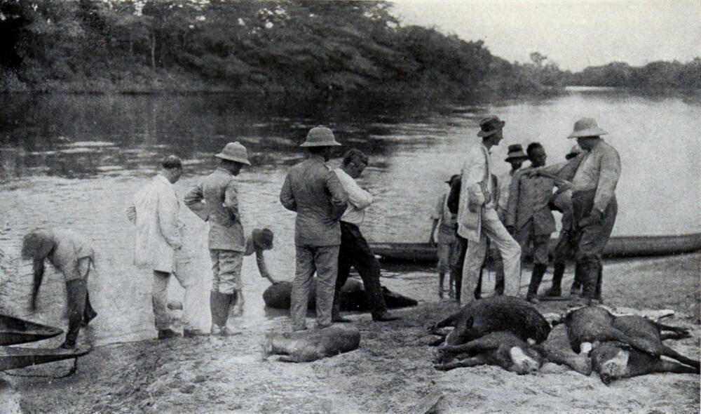
<svg viewBox="0 0 701 414">
<path fill-rule="evenodd" d="M 468 240 L 463 263 L 461 299 L 466 304 L 475 300 L 479 269 L 486 255 L 486 238 L 501 253 L 504 263 L 504 294 L 516 296 L 521 283 L 521 246 L 506 231 L 499 220 L 494 203 L 494 183 L 491 178 L 489 149 L 503 139 L 504 121 L 488 116 L 479 121 L 478 137 L 482 138 L 468 152 L 463 163 L 462 188 L 458 203 L 458 235 Z"/>
</svg>

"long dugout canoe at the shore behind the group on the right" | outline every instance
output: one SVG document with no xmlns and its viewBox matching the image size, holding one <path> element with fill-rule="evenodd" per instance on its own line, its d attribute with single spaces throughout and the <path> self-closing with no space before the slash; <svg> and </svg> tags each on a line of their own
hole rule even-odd
<svg viewBox="0 0 701 414">
<path fill-rule="evenodd" d="M 550 254 L 557 239 L 550 239 Z M 375 255 L 398 262 L 435 262 L 436 247 L 429 243 L 370 243 Z M 701 250 L 701 233 L 681 236 L 616 236 L 606 248 L 604 258 L 641 258 L 693 253 Z"/>
</svg>

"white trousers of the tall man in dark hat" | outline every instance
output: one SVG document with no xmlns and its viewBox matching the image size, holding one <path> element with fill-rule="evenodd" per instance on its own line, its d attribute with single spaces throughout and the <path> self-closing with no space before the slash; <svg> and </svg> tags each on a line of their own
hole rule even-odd
<svg viewBox="0 0 701 414">
<path fill-rule="evenodd" d="M 479 269 L 486 256 L 486 238 L 499 249 L 504 263 L 504 295 L 517 296 L 521 288 L 521 246 L 506 231 L 494 208 L 482 208 L 482 228 L 479 242 L 468 241 L 468 251 L 463 262 L 463 286 L 461 300 L 468 304 L 475 300 L 475 288 Z"/>
</svg>

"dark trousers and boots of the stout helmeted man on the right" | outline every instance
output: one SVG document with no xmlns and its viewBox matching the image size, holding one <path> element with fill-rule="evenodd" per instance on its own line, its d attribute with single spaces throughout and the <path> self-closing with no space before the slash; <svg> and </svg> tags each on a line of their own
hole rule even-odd
<svg viewBox="0 0 701 414">
<path fill-rule="evenodd" d="M 595 190 L 576 192 L 572 194 L 577 230 L 577 265 L 581 266 L 583 276 L 583 297 L 601 298 L 601 253 L 611 237 L 611 231 L 618 213 L 618 203 L 615 196 L 606 206 L 601 220 L 586 227 L 579 227 L 579 222 L 592 211 Z"/>
</svg>

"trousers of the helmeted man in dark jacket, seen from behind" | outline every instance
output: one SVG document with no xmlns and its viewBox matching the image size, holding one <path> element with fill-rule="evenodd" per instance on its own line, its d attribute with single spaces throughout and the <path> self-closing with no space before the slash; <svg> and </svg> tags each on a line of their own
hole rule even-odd
<svg viewBox="0 0 701 414">
<path fill-rule="evenodd" d="M 339 271 L 340 246 L 297 245 L 296 247 L 297 263 L 290 303 L 292 330 L 306 328 L 309 287 L 314 272 L 316 272 L 316 324 L 329 326 L 334 305 L 336 276 Z"/>
</svg>

